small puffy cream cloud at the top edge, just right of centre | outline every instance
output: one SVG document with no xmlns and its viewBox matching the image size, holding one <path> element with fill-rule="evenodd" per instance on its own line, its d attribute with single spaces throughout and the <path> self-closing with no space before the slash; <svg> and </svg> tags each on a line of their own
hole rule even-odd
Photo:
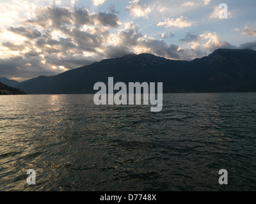
<svg viewBox="0 0 256 204">
<path fill-rule="evenodd" d="M 131 5 L 126 6 L 125 10 L 129 11 L 134 17 L 148 18 L 148 13 L 151 12 L 151 8 L 142 4 L 139 0 L 129 1 Z"/>
</svg>

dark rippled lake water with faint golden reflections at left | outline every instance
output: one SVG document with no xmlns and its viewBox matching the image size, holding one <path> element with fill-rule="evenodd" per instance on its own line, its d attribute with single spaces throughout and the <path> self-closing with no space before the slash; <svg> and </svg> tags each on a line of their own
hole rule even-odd
<svg viewBox="0 0 256 204">
<path fill-rule="evenodd" d="M 0 96 L 0 190 L 255 191 L 255 102 L 164 94 L 153 113 L 96 106 L 93 95 Z"/>
</svg>

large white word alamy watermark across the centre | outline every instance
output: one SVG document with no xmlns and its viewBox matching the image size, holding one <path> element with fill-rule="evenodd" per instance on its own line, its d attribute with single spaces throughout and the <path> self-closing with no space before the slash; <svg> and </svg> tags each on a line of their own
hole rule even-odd
<svg viewBox="0 0 256 204">
<path fill-rule="evenodd" d="M 108 92 L 107 92 L 108 87 Z M 143 105 L 152 105 L 151 112 L 160 112 L 163 109 L 163 83 L 150 82 L 129 82 L 127 91 L 127 85 L 124 82 L 117 82 L 114 85 L 114 78 L 108 78 L 108 84 L 103 82 L 97 82 L 93 90 L 100 90 L 94 95 L 93 101 L 95 105 L 134 105 L 134 99 L 136 105 L 141 105 L 141 89 L 143 89 Z M 136 90 L 134 92 L 134 89 Z M 114 91 L 116 92 L 114 96 Z M 127 98 L 128 96 L 128 98 Z M 135 98 L 134 98 L 135 96 Z M 156 98 L 157 96 L 157 98 Z M 108 98 L 108 101 L 107 101 Z"/>
</svg>

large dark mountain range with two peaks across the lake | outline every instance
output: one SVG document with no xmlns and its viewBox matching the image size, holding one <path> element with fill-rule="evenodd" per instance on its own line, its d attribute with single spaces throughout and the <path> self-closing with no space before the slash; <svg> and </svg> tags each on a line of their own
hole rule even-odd
<svg viewBox="0 0 256 204">
<path fill-rule="evenodd" d="M 256 91 L 256 51 L 218 49 L 193 61 L 173 61 L 152 54 L 104 59 L 52 77 L 16 85 L 28 94 L 93 94 L 97 82 L 163 82 L 164 92 Z"/>
</svg>

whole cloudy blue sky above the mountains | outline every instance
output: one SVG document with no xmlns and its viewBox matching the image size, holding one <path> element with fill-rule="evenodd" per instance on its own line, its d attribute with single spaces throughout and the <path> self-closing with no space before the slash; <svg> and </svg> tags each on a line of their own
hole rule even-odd
<svg viewBox="0 0 256 204">
<path fill-rule="evenodd" d="M 125 54 L 191 61 L 256 50 L 255 9 L 255 0 L 0 0 L 0 77 L 52 76 Z"/>
</svg>

